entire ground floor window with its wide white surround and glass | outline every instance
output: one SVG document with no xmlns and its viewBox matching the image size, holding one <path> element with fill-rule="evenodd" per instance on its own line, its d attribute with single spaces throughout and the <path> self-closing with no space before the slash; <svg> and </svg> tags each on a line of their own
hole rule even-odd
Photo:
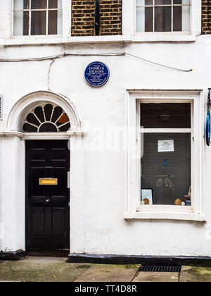
<svg viewBox="0 0 211 296">
<path fill-rule="evenodd" d="M 127 92 L 125 218 L 202 221 L 203 96 Z"/>
</svg>

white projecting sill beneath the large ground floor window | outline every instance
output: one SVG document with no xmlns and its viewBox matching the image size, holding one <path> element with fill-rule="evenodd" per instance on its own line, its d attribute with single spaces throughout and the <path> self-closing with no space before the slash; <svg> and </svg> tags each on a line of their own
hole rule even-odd
<svg viewBox="0 0 211 296">
<path fill-rule="evenodd" d="M 205 215 L 193 213 L 133 212 L 124 213 L 125 220 L 180 220 L 205 222 Z"/>
</svg>

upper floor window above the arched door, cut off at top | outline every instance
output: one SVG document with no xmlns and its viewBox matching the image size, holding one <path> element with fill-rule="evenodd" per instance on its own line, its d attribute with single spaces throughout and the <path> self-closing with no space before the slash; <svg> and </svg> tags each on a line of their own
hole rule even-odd
<svg viewBox="0 0 211 296">
<path fill-rule="evenodd" d="M 13 0 L 13 35 L 61 35 L 62 0 Z"/>
</svg>

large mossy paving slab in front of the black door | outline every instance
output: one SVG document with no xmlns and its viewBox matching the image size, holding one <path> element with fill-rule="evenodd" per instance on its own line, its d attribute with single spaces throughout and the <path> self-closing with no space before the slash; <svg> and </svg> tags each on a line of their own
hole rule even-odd
<svg viewBox="0 0 211 296">
<path fill-rule="evenodd" d="M 28 258 L 0 264 L 0 281 L 72 282 L 90 264 L 68 264 L 66 258 Z"/>
</svg>

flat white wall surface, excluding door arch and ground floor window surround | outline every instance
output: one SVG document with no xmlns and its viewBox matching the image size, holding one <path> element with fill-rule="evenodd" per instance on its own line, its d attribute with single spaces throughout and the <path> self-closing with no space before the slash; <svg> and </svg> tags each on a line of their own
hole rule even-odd
<svg viewBox="0 0 211 296">
<path fill-rule="evenodd" d="M 127 36 L 131 29 L 124 26 Z M 1 24 L 2 39 L 6 32 L 8 27 L 4 29 Z M 211 148 L 204 144 L 203 203 L 207 223 L 126 221 L 127 152 L 117 147 L 113 151 L 109 141 L 105 142 L 115 128 L 123 130 L 122 142 L 126 142 L 128 89 L 204 90 L 206 110 L 207 88 L 211 87 L 211 36 L 195 39 L 193 42 L 125 43 L 121 38 L 119 42 L 114 38 L 114 43 L 94 42 L 96 39 L 87 43 L 87 38 L 75 39 L 86 43 L 69 44 L 67 53 L 93 56 L 68 56 L 56 60 L 51 66 L 49 84 L 51 61 L 0 63 L 0 93 L 4 95 L 4 120 L 0 121 L 0 131 L 7 129 L 8 116 L 18 100 L 40 90 L 51 90 L 68 97 L 79 113 L 84 130 L 88 131 L 85 137 L 71 138 L 71 252 L 211 256 Z M 34 58 L 63 52 L 60 44 L 39 45 L 39 41 L 37 45 L 15 45 L 17 40 L 11 42 L 8 39 L 4 42 L 7 44 L 4 58 Z M 94 56 L 123 51 L 167 66 L 192 68 L 193 71 L 170 70 L 129 56 Z M 110 68 L 110 80 L 103 87 L 92 88 L 84 80 L 84 70 L 90 62 L 97 60 Z M 203 116 L 205 118 L 205 114 Z M 0 137 L 0 159 L 0 226 L 2 222 L 4 228 L 0 249 L 24 249 L 24 140 Z"/>
</svg>

